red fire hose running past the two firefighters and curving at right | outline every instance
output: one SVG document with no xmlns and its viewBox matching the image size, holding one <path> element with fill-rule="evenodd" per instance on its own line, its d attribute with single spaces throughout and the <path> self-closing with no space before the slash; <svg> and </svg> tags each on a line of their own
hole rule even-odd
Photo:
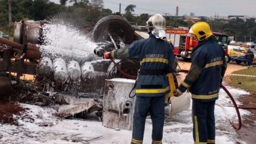
<svg viewBox="0 0 256 144">
<path fill-rule="evenodd" d="M 119 65 L 117 65 L 116 62 L 114 62 L 114 60 L 111 59 L 111 61 L 114 63 L 114 65 L 116 65 L 118 71 L 125 75 L 125 77 L 128 77 L 129 79 L 137 79 L 137 76 L 133 76 L 133 75 L 128 75 L 127 73 L 125 73 L 123 70 L 121 70 L 121 67 L 119 67 Z M 188 73 L 188 70 L 186 69 L 180 69 L 181 73 Z M 256 109 L 255 107 L 238 107 L 238 105 L 236 104 L 236 101 L 234 100 L 233 96 L 230 94 L 230 92 L 228 91 L 228 89 L 223 85 L 221 84 L 221 88 L 223 88 L 224 92 L 226 92 L 226 94 L 228 95 L 228 97 L 231 99 L 233 105 L 234 105 L 234 108 L 236 109 L 236 114 L 238 116 L 238 124 L 235 124 L 235 122 L 230 121 L 230 124 L 233 126 L 233 128 L 235 130 L 240 130 L 241 127 L 242 127 L 242 119 L 241 119 L 241 115 L 240 115 L 240 111 L 239 109 Z"/>
</svg>

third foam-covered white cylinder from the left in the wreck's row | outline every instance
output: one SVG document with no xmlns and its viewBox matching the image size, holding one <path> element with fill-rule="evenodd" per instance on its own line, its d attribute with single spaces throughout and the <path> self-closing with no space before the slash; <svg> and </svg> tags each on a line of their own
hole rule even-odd
<svg viewBox="0 0 256 144">
<path fill-rule="evenodd" d="M 72 81 L 77 81 L 81 77 L 81 67 L 78 62 L 72 60 L 68 64 L 68 76 Z"/>
</svg>

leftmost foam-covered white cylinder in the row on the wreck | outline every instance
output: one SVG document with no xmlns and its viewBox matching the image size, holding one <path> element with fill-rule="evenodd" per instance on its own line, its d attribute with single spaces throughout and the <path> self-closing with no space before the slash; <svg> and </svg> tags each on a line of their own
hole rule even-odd
<svg viewBox="0 0 256 144">
<path fill-rule="evenodd" d="M 41 58 L 38 67 L 38 73 L 42 76 L 51 75 L 53 72 L 53 62 L 50 58 Z"/>
</svg>

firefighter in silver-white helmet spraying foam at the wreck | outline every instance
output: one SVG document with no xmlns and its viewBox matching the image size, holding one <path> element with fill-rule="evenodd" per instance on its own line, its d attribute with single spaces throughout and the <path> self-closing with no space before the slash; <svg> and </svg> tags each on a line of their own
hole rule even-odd
<svg viewBox="0 0 256 144">
<path fill-rule="evenodd" d="M 140 70 L 135 88 L 136 102 L 133 116 L 131 143 L 142 144 L 148 111 L 152 118 L 152 143 L 161 144 L 163 137 L 165 94 L 169 92 L 167 73 L 177 67 L 173 47 L 165 41 L 165 18 L 151 16 L 147 23 L 149 38 L 133 42 L 129 48 L 105 52 L 105 58 L 125 59 L 137 57 Z"/>
</svg>

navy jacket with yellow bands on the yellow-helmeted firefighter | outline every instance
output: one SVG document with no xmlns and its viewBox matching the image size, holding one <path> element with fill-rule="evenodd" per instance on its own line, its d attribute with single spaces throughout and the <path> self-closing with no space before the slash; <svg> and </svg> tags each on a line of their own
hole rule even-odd
<svg viewBox="0 0 256 144">
<path fill-rule="evenodd" d="M 179 86 L 179 90 L 184 92 L 188 88 L 192 99 L 215 100 L 219 96 L 225 71 L 224 49 L 212 38 L 200 41 L 192 52 L 190 70 Z"/>
</svg>

